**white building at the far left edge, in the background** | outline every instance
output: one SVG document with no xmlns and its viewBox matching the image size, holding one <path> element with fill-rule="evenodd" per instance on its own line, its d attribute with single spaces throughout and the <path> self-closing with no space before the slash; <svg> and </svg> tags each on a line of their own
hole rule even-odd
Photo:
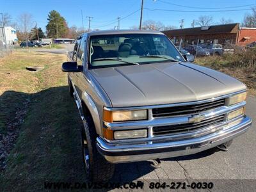
<svg viewBox="0 0 256 192">
<path fill-rule="evenodd" d="M 6 36 L 7 45 L 17 44 L 18 38 L 17 38 L 17 33 L 16 33 L 15 29 L 13 29 L 12 27 L 4 27 L 4 31 L 3 31 L 3 27 L 0 27 L 0 41 L 1 42 L 4 42 L 4 34 Z"/>
</svg>

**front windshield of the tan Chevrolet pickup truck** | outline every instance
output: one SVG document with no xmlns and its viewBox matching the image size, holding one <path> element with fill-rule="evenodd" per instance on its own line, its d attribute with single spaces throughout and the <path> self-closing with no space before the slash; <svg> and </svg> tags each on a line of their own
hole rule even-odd
<svg viewBox="0 0 256 192">
<path fill-rule="evenodd" d="M 184 61 L 164 35 L 122 34 L 90 38 L 89 68 Z"/>
</svg>

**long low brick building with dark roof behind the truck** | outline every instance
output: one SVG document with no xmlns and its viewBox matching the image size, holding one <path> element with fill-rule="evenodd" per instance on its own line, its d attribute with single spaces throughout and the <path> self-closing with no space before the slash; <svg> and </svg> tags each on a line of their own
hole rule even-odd
<svg viewBox="0 0 256 192">
<path fill-rule="evenodd" d="M 175 44 L 236 44 L 245 46 L 256 40 L 256 28 L 239 28 L 239 23 L 163 31 Z"/>
</svg>

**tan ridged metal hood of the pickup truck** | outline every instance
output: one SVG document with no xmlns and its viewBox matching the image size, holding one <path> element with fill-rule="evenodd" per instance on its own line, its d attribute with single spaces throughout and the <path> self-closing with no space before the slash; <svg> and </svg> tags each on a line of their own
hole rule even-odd
<svg viewBox="0 0 256 192">
<path fill-rule="evenodd" d="M 109 107 L 114 108 L 190 102 L 246 89 L 233 77 L 192 63 L 154 63 L 89 71 L 111 100 Z"/>
</svg>

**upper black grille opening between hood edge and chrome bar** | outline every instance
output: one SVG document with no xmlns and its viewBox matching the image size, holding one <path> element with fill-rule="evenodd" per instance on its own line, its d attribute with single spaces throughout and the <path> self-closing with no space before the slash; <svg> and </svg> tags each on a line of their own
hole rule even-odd
<svg viewBox="0 0 256 192">
<path fill-rule="evenodd" d="M 202 111 L 208 111 L 211 109 L 219 108 L 224 105 L 225 105 L 225 99 L 220 99 L 220 100 L 214 100 L 211 102 L 205 102 L 201 104 L 176 106 L 176 107 L 170 107 L 170 108 L 154 108 L 152 109 L 152 114 L 153 114 L 153 117 L 188 115 L 188 114 L 196 114 Z"/>
</svg>

